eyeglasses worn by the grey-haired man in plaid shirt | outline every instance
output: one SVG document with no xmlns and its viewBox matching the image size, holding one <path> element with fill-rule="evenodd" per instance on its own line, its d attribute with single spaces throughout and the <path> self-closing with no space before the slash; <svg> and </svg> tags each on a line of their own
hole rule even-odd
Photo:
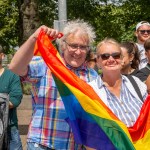
<svg viewBox="0 0 150 150">
<path fill-rule="evenodd" d="M 76 51 L 77 49 L 80 49 L 82 52 L 86 52 L 89 50 L 89 46 L 87 45 L 73 44 L 73 43 L 68 43 L 66 41 L 64 42 L 71 48 L 71 51 Z"/>
</svg>

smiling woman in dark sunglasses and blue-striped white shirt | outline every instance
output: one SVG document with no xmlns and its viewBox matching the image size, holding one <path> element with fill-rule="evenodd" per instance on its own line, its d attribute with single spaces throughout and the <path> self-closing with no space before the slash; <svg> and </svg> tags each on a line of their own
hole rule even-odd
<svg viewBox="0 0 150 150">
<path fill-rule="evenodd" d="M 127 127 L 133 126 L 147 97 L 146 85 L 134 77 L 142 94 L 141 100 L 129 79 L 121 74 L 121 48 L 113 39 L 104 39 L 98 44 L 97 64 L 102 74 L 89 84 Z"/>
</svg>

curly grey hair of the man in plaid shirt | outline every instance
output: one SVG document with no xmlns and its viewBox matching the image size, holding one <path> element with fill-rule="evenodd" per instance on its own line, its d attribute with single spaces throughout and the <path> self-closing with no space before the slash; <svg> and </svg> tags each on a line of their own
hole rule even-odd
<svg viewBox="0 0 150 150">
<path fill-rule="evenodd" d="M 89 46 L 92 45 L 94 42 L 94 39 L 96 38 L 94 29 L 91 25 L 89 25 L 87 22 L 83 20 L 74 20 L 74 21 L 69 21 L 63 30 L 64 36 L 59 39 L 57 42 L 62 46 L 62 42 L 66 40 L 66 38 L 72 34 L 76 33 L 77 31 L 81 31 L 83 34 L 87 34 L 88 40 L 89 40 Z"/>
</svg>

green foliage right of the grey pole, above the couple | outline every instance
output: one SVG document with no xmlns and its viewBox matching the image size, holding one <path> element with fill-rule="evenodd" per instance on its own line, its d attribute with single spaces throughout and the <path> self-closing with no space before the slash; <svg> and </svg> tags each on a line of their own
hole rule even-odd
<svg viewBox="0 0 150 150">
<path fill-rule="evenodd" d="M 145 0 L 74 0 L 68 1 L 68 19 L 84 19 L 95 28 L 97 39 L 105 37 L 118 41 L 135 41 L 135 26 L 149 21 L 149 2 Z"/>
</svg>

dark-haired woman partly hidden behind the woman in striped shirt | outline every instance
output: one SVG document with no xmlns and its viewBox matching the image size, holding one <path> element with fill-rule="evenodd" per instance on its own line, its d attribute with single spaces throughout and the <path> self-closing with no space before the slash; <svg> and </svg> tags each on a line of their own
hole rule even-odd
<svg viewBox="0 0 150 150">
<path fill-rule="evenodd" d="M 140 63 L 137 45 L 134 42 L 123 42 L 120 47 L 123 57 L 121 73 L 135 75 Z"/>
</svg>

